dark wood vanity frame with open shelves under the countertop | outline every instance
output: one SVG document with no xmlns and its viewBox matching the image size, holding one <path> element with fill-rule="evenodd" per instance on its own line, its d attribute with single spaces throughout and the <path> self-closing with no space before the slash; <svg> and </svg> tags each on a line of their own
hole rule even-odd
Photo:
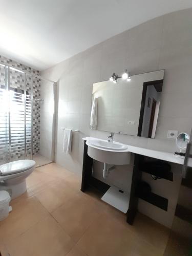
<svg viewBox="0 0 192 256">
<path fill-rule="evenodd" d="M 89 187 L 94 187 L 102 194 L 106 193 L 110 186 L 94 178 L 92 176 L 92 170 L 93 159 L 88 156 L 88 146 L 86 141 L 84 141 L 81 191 L 85 192 Z M 126 214 L 126 221 L 131 225 L 133 224 L 137 213 L 139 198 L 166 211 L 168 207 L 168 200 L 166 198 L 154 194 L 153 191 L 146 192 L 138 189 L 138 186 L 140 186 L 142 181 L 142 172 L 157 176 L 162 179 L 173 181 L 173 173 L 170 170 L 170 165 L 166 161 L 160 161 L 158 159 L 152 159 L 150 157 L 144 157 L 142 155 L 135 154 L 129 209 Z"/>
</svg>

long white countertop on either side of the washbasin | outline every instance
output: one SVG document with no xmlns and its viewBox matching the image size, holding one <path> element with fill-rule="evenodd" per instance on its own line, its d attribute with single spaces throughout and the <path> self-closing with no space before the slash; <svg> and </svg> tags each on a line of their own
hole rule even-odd
<svg viewBox="0 0 192 256">
<path fill-rule="evenodd" d="M 86 140 L 86 141 L 91 139 L 102 140 L 94 137 L 82 138 L 82 140 Z M 103 141 L 106 141 L 106 140 L 103 140 Z M 127 151 L 138 154 L 138 155 L 152 157 L 152 158 L 164 160 L 171 163 L 177 163 L 177 164 L 183 164 L 184 162 L 184 157 L 176 156 L 174 153 L 157 151 L 157 150 L 149 150 L 148 148 L 132 146 L 132 145 L 127 145 L 127 147 L 128 147 Z M 188 166 L 192 167 L 192 158 L 189 159 Z"/>
</svg>

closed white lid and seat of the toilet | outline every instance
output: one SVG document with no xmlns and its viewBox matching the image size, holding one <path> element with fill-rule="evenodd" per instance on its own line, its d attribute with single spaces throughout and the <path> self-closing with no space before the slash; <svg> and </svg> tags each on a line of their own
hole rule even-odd
<svg viewBox="0 0 192 256">
<path fill-rule="evenodd" d="M 9 175 L 24 172 L 35 166 L 33 160 L 17 160 L 14 162 L 0 165 L 0 175 Z"/>
</svg>

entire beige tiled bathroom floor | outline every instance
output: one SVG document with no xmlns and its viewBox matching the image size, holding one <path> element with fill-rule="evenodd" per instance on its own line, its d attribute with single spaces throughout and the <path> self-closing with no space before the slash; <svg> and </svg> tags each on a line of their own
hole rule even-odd
<svg viewBox="0 0 192 256">
<path fill-rule="evenodd" d="M 28 191 L 11 202 L 0 222 L 3 256 L 158 256 L 169 230 L 138 214 L 133 226 L 102 202 L 82 193 L 80 178 L 52 163 L 36 168 Z"/>
</svg>

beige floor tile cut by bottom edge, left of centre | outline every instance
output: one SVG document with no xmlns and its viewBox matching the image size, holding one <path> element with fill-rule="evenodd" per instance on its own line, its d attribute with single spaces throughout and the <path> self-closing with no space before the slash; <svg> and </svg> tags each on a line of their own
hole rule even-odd
<svg viewBox="0 0 192 256">
<path fill-rule="evenodd" d="M 73 246 L 72 239 L 50 216 L 7 245 L 14 256 L 64 256 Z"/>
</svg>

